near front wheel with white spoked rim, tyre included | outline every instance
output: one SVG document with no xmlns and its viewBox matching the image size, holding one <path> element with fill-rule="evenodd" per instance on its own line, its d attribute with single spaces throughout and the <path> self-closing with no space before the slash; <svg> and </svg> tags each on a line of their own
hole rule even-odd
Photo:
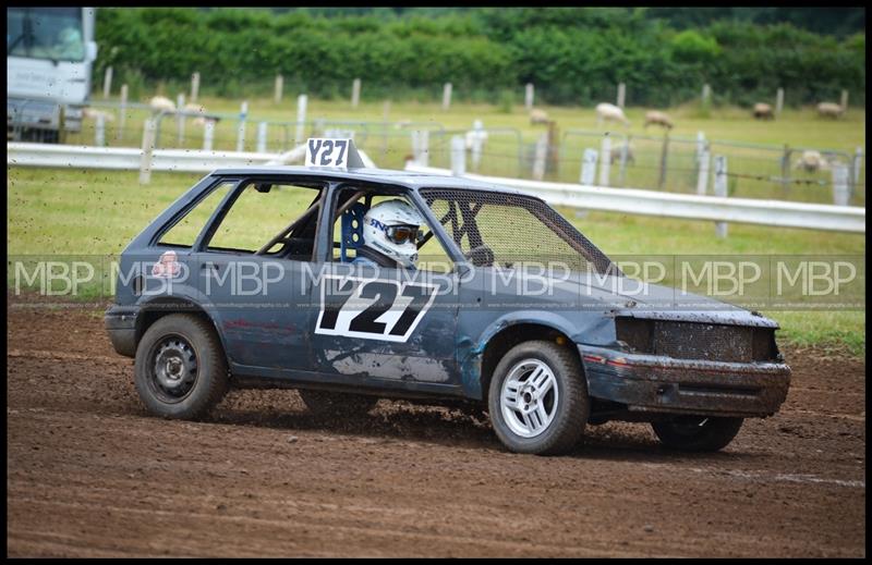
<svg viewBox="0 0 872 565">
<path fill-rule="evenodd" d="M 494 431 L 510 451 L 566 453 L 584 433 L 591 409 L 578 356 L 546 341 L 516 345 L 494 370 L 488 407 Z"/>
</svg>

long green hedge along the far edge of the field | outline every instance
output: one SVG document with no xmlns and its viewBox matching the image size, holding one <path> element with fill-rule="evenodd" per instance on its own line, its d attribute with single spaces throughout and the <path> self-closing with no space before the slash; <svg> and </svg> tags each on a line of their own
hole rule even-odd
<svg viewBox="0 0 872 565">
<path fill-rule="evenodd" d="M 271 91 L 277 73 L 294 90 L 363 98 L 438 99 L 451 82 L 459 99 L 496 102 L 506 89 L 536 85 L 548 103 L 591 105 L 627 84 L 631 106 L 671 106 L 699 96 L 749 105 L 865 101 L 865 36 L 845 39 L 789 24 L 720 21 L 677 30 L 644 9 L 479 8 L 433 17 L 324 17 L 251 9 L 99 9 L 97 72 L 112 65 L 132 95 L 186 85 L 221 96 Z M 95 84 L 99 81 L 95 81 Z M 149 88 L 146 88 L 146 85 Z M 142 91 L 141 91 L 142 90 Z"/>
</svg>

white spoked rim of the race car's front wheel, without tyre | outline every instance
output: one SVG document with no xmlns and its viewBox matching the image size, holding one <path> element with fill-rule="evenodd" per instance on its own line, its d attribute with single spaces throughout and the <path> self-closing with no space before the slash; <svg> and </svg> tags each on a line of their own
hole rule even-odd
<svg viewBox="0 0 872 565">
<path fill-rule="evenodd" d="M 557 414 L 557 379 L 538 359 L 524 359 L 502 383 L 499 406 L 502 419 L 517 435 L 535 438 L 545 432 Z"/>
</svg>

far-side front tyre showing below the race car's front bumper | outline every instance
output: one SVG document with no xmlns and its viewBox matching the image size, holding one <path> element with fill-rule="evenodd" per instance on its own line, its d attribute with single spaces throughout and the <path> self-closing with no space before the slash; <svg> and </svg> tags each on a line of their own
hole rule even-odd
<svg viewBox="0 0 872 565">
<path fill-rule="evenodd" d="M 654 421 L 654 433 L 667 447 L 681 451 L 712 452 L 723 450 L 739 433 L 743 418 L 678 416 Z"/>
</svg>

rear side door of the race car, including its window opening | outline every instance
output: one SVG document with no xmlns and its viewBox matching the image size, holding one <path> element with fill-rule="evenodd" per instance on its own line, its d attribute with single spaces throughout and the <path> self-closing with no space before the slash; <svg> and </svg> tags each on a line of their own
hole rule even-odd
<svg viewBox="0 0 872 565">
<path fill-rule="evenodd" d="M 243 180 L 204 234 L 198 284 L 237 371 L 292 377 L 313 370 L 308 273 L 322 188 Z"/>
</svg>

